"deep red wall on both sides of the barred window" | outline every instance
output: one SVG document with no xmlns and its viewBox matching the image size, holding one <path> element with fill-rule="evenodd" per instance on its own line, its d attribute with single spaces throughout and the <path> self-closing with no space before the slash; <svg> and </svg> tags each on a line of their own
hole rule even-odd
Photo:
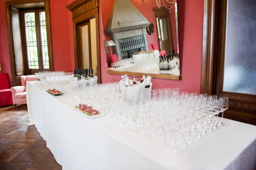
<svg viewBox="0 0 256 170">
<path fill-rule="evenodd" d="M 11 81 L 11 66 L 7 39 L 5 0 L 0 0 L 0 63 Z M 52 56 L 55 71 L 72 71 L 69 13 L 67 0 L 50 0 Z M 73 28 L 71 30 L 73 32 Z M 73 40 L 73 37 L 72 37 Z M 73 58 L 72 58 L 73 59 Z M 75 62 L 75 61 L 74 61 Z"/>
</svg>

